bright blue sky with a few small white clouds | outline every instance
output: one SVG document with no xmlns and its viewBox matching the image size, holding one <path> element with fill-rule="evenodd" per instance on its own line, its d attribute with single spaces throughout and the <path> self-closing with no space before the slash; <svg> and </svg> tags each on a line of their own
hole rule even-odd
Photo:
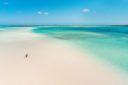
<svg viewBox="0 0 128 85">
<path fill-rule="evenodd" d="M 126 25 L 128 0 L 0 0 L 0 25 Z"/>
</svg>

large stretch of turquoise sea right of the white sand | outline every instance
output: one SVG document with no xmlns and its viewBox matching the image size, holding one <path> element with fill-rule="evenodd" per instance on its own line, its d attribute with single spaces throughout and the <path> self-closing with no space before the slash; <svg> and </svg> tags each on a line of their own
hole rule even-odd
<svg viewBox="0 0 128 85">
<path fill-rule="evenodd" d="M 128 72 L 128 27 L 36 27 L 32 32 L 73 43 Z"/>
</svg>

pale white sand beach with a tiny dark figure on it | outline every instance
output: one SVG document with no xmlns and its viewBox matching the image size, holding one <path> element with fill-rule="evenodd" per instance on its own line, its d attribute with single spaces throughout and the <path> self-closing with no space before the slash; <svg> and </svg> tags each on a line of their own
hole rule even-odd
<svg viewBox="0 0 128 85">
<path fill-rule="evenodd" d="M 0 85 L 128 85 L 88 53 L 30 29 L 0 33 Z"/>
</svg>

